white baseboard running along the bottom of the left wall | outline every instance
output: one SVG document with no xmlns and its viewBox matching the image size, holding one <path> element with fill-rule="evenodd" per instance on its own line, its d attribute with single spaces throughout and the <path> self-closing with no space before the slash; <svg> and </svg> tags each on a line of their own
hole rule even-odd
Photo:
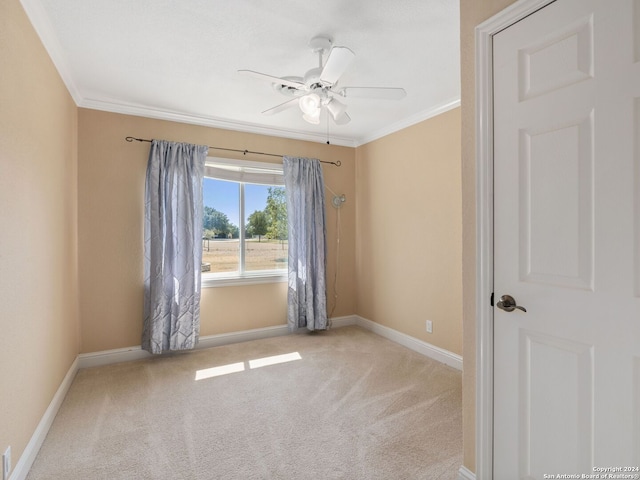
<svg viewBox="0 0 640 480">
<path fill-rule="evenodd" d="M 44 442 L 47 433 L 49 433 L 51 424 L 53 423 L 54 418 L 56 418 L 64 397 L 67 396 L 67 392 L 71 387 L 71 383 L 73 383 L 73 379 L 76 377 L 76 373 L 78 373 L 77 357 L 71 364 L 71 367 L 69 367 L 69 370 L 64 376 L 58 390 L 56 390 L 56 394 L 53 396 L 51 403 L 49 403 L 47 410 L 40 419 L 40 423 L 38 423 L 36 430 L 33 432 L 33 435 L 31 435 L 29 443 L 27 443 L 24 452 L 20 455 L 20 459 L 16 463 L 13 472 L 9 475 L 9 480 L 24 480 L 27 478 L 31 465 L 33 465 L 33 462 L 40 451 L 40 447 L 42 446 L 42 442 Z"/>
</svg>

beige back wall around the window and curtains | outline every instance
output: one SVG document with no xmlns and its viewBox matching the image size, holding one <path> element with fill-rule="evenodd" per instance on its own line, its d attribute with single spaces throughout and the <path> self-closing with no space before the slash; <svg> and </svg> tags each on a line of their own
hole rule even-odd
<svg viewBox="0 0 640 480">
<path fill-rule="evenodd" d="M 340 160 L 341 167 L 324 166 L 327 186 L 347 197 L 341 210 L 339 298 L 334 316 L 355 313 L 353 148 L 80 109 L 78 228 L 82 352 L 140 345 L 143 201 L 149 144 L 128 143 L 125 137 L 129 135 Z M 278 161 L 215 150 L 210 155 Z M 329 192 L 327 195 L 331 198 Z M 333 291 L 336 265 L 335 220 L 336 211 L 328 205 L 329 292 Z M 201 335 L 283 325 L 286 296 L 285 283 L 203 289 Z M 332 307 L 329 295 L 329 308 Z"/>
</svg>

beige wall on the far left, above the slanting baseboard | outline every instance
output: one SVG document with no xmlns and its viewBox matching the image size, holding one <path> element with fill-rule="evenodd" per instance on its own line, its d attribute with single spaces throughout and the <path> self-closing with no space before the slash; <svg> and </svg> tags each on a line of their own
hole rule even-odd
<svg viewBox="0 0 640 480">
<path fill-rule="evenodd" d="M 78 353 L 77 108 L 0 2 L 0 450 L 15 467 Z"/>
</svg>

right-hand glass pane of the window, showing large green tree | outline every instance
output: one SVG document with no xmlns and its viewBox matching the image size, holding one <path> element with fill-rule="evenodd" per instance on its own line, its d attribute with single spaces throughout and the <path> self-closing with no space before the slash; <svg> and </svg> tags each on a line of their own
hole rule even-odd
<svg viewBox="0 0 640 480">
<path fill-rule="evenodd" d="M 287 205 L 284 188 L 245 184 L 245 270 L 287 268 Z"/>
</svg>

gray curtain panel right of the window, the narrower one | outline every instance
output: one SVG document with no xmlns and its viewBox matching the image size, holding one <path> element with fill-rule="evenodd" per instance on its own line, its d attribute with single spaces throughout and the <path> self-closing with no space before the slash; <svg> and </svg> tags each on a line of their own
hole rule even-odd
<svg viewBox="0 0 640 480">
<path fill-rule="evenodd" d="M 289 330 L 327 328 L 324 179 L 316 159 L 284 157 L 289 220 Z"/>
</svg>

